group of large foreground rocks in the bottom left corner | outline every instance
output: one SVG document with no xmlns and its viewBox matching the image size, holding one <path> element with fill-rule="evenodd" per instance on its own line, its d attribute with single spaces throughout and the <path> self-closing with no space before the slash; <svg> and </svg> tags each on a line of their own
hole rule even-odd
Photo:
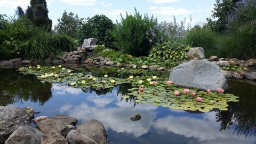
<svg viewBox="0 0 256 144">
<path fill-rule="evenodd" d="M 5 123 L 0 125 L 0 143 L 111 143 L 107 140 L 105 127 L 95 119 L 76 126 L 78 120 L 73 117 L 40 116 L 35 118 L 38 130 L 29 125 L 30 113 L 27 113 L 25 108 L 6 106 L 0 107 L 0 111 L 0 121 Z"/>
</svg>

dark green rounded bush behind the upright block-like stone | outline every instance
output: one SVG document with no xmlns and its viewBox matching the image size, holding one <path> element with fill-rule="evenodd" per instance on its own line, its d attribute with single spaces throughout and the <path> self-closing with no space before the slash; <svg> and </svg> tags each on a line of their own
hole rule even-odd
<svg viewBox="0 0 256 144">
<path fill-rule="evenodd" d="M 113 47 L 113 37 L 110 31 L 113 29 L 114 24 L 105 15 L 95 15 L 92 18 L 87 18 L 81 22 L 82 27 L 78 30 L 78 39 L 83 43 L 85 38 L 96 38 L 98 44 L 107 47 Z"/>
</svg>

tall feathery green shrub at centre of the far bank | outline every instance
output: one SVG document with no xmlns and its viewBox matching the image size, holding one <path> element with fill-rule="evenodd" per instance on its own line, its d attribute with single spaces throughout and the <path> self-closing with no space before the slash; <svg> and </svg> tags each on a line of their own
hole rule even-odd
<svg viewBox="0 0 256 144">
<path fill-rule="evenodd" d="M 121 15 L 121 22 L 117 22 L 113 30 L 114 45 L 122 52 L 136 57 L 148 55 L 151 49 L 149 39 L 152 39 L 150 28 L 156 22 L 153 15 L 151 18 L 147 14 L 142 17 L 136 9 L 133 15 L 126 12 L 125 18 Z"/>
</svg>

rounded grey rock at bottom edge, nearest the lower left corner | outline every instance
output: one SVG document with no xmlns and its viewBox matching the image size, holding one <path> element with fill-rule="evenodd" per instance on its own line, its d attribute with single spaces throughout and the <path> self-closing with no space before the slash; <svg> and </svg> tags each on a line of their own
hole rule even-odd
<svg viewBox="0 0 256 144">
<path fill-rule="evenodd" d="M 17 130 L 15 130 L 10 137 L 6 140 L 5 144 L 41 144 L 41 138 L 44 133 L 31 127 L 29 125 L 20 126 Z"/>
</svg>

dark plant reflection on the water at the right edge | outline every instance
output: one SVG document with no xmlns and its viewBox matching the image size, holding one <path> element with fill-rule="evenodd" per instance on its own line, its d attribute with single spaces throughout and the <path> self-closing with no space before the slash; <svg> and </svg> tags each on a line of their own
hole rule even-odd
<svg viewBox="0 0 256 144">
<path fill-rule="evenodd" d="M 220 131 L 231 129 L 237 135 L 256 136 L 256 85 L 240 81 L 228 81 L 228 93 L 237 95 L 239 102 L 230 102 L 227 111 L 218 111 Z"/>
</svg>

